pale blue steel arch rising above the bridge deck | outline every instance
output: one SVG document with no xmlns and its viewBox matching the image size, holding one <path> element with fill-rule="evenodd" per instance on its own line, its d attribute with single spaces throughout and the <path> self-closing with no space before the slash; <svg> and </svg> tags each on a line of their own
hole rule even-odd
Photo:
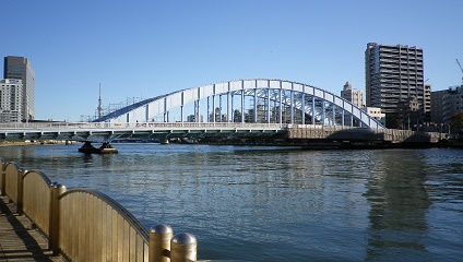
<svg viewBox="0 0 463 262">
<path fill-rule="evenodd" d="M 201 109 L 206 107 L 206 116 L 211 116 L 206 121 L 210 122 L 233 122 L 238 119 L 241 122 L 383 128 L 377 119 L 330 92 L 302 83 L 266 79 L 237 80 L 181 90 L 139 102 L 95 121 L 150 122 L 161 116 L 163 121 L 168 122 L 169 112 L 179 109 L 180 121 L 185 122 L 185 107 L 191 104 L 194 104 L 194 121 L 203 121 Z M 226 108 L 223 108 L 223 104 Z M 215 117 L 217 111 L 222 116 L 218 119 Z M 241 117 L 237 117 L 237 114 Z"/>
</svg>

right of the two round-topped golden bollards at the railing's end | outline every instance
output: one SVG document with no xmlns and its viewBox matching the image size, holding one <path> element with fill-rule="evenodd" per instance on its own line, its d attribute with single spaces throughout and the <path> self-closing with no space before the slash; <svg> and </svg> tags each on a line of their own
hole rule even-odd
<svg viewBox="0 0 463 262">
<path fill-rule="evenodd" d="M 197 238 L 188 233 L 179 233 L 170 240 L 171 262 L 197 261 Z"/>
</svg>

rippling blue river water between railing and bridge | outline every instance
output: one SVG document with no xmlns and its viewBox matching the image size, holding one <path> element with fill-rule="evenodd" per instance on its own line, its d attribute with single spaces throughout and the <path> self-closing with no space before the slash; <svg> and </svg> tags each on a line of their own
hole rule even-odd
<svg viewBox="0 0 463 262">
<path fill-rule="evenodd" d="M 0 147 L 69 188 L 102 191 L 198 259 L 462 261 L 463 151 L 116 144 Z"/>
</svg>

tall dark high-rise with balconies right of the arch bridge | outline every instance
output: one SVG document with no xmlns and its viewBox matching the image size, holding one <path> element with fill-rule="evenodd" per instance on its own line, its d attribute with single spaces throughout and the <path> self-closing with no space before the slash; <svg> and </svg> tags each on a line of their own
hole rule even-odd
<svg viewBox="0 0 463 262">
<path fill-rule="evenodd" d="M 369 43 L 365 51 L 365 74 L 368 107 L 379 107 L 387 120 L 394 120 L 399 118 L 399 105 L 403 107 L 403 103 L 417 100 L 420 121 L 425 120 L 428 105 L 425 105 L 423 49 Z"/>
</svg>

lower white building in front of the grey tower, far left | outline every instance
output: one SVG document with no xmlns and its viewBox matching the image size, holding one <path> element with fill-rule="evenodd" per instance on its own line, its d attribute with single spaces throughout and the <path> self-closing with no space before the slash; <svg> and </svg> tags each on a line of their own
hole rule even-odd
<svg viewBox="0 0 463 262">
<path fill-rule="evenodd" d="M 21 80 L 0 80 L 0 122 L 21 122 L 23 119 L 23 83 Z"/>
</svg>

